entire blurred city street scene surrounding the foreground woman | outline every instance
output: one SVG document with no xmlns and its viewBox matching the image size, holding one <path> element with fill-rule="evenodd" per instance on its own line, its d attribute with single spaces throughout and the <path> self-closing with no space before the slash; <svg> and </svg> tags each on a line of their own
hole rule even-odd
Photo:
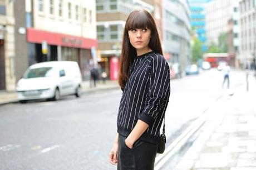
<svg viewBox="0 0 256 170">
<path fill-rule="evenodd" d="M 122 34 L 140 8 L 171 76 L 156 169 L 256 169 L 256 0 L 0 0 L 0 169 L 116 169 Z"/>
</svg>

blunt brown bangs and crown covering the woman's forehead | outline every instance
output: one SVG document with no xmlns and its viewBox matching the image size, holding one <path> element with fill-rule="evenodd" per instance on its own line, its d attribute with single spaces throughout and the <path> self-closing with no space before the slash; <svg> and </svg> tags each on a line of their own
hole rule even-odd
<svg viewBox="0 0 256 170">
<path fill-rule="evenodd" d="M 152 21 L 150 17 L 142 10 L 136 10 L 127 18 L 125 30 L 148 28 L 152 31 Z"/>
</svg>

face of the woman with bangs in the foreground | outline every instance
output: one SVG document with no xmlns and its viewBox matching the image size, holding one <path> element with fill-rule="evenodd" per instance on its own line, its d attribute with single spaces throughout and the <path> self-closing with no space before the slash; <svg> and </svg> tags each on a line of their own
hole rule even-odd
<svg viewBox="0 0 256 170">
<path fill-rule="evenodd" d="M 137 28 L 128 31 L 131 45 L 137 51 L 146 51 L 149 49 L 149 41 L 151 37 L 151 30 L 148 28 Z"/>
</svg>

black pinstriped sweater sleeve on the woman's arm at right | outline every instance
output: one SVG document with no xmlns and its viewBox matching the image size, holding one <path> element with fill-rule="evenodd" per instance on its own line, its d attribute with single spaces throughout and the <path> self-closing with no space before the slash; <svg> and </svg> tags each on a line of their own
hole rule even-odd
<svg viewBox="0 0 256 170">
<path fill-rule="evenodd" d="M 157 117 L 170 93 L 170 68 L 163 56 L 157 56 L 151 63 L 149 91 L 140 120 L 151 124 Z"/>
</svg>

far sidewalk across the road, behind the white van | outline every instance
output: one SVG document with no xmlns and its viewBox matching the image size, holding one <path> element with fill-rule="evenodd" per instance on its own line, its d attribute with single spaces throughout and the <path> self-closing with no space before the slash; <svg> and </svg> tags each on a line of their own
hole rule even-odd
<svg viewBox="0 0 256 170">
<path fill-rule="evenodd" d="M 118 89 L 120 88 L 117 81 L 106 81 L 106 84 L 99 81 L 96 87 L 90 87 L 90 82 L 85 81 L 82 82 L 82 92 L 83 93 L 91 93 L 97 91 L 104 91 L 107 89 Z M 0 91 L 0 105 L 6 103 L 18 102 L 17 93 L 16 92 L 5 92 Z"/>
</svg>

